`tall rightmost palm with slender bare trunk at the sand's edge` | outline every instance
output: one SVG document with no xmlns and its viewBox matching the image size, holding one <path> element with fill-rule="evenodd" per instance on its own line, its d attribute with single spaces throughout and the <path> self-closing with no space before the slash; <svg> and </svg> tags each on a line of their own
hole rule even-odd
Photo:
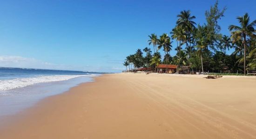
<svg viewBox="0 0 256 139">
<path fill-rule="evenodd" d="M 246 37 L 256 37 L 254 34 L 256 30 L 254 26 L 256 25 L 256 20 L 249 23 L 250 18 L 248 13 L 245 13 L 243 16 L 239 16 L 238 22 L 241 26 L 229 25 L 229 31 L 231 32 L 232 38 L 240 38 L 243 40 L 243 73 L 246 74 Z"/>
</svg>

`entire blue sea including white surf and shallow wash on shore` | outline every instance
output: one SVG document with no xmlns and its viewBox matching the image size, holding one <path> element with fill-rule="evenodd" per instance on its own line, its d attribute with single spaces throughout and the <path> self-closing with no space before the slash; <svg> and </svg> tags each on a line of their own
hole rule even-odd
<svg viewBox="0 0 256 139">
<path fill-rule="evenodd" d="M 82 82 L 92 82 L 100 73 L 0 68 L 0 118 L 16 114 L 41 99 L 67 91 Z"/>
</svg>

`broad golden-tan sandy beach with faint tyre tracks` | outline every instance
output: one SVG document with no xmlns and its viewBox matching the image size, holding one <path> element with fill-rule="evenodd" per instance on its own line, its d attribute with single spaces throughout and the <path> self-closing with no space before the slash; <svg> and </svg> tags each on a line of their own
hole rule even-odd
<svg viewBox="0 0 256 139">
<path fill-rule="evenodd" d="M 5 121 L 0 139 L 256 139 L 256 78 L 104 75 Z"/>
</svg>

